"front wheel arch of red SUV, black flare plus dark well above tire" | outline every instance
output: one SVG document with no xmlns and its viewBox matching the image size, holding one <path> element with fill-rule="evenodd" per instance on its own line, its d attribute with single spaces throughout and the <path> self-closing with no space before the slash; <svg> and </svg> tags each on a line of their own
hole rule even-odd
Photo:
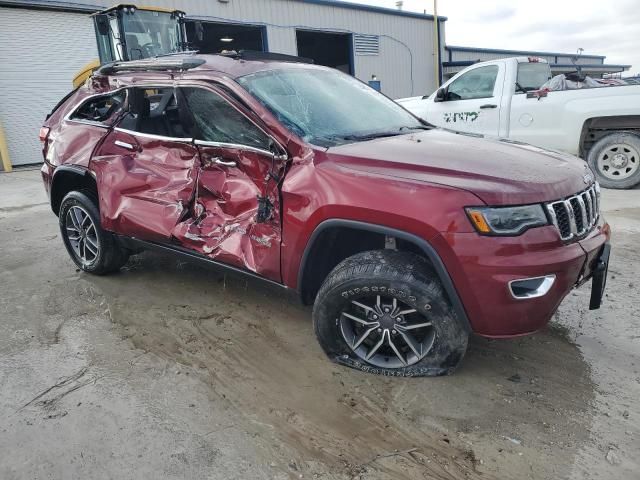
<svg viewBox="0 0 640 480">
<path fill-rule="evenodd" d="M 348 255 L 338 255 L 333 259 L 331 259 L 330 256 L 322 255 L 323 253 L 329 253 L 329 250 L 332 248 L 332 245 L 326 244 L 324 240 L 331 239 L 336 233 L 344 230 L 355 232 L 355 234 L 358 235 L 359 241 L 364 239 L 364 237 L 362 237 L 363 232 L 372 234 L 378 242 L 379 249 L 385 248 L 385 241 L 388 238 L 393 238 L 395 242 L 399 240 L 402 248 L 398 248 L 398 250 L 413 251 L 426 258 L 438 276 L 456 316 L 467 331 L 472 331 L 467 313 L 453 284 L 453 280 L 440 255 L 428 241 L 403 230 L 356 220 L 325 220 L 315 228 L 309 237 L 298 269 L 298 294 L 304 304 L 313 303 L 320 285 L 335 265 L 348 256 L 372 249 L 367 248 L 371 245 L 370 242 L 363 241 L 358 244 L 357 251 L 350 252 Z M 380 243 L 380 241 L 383 243 Z M 328 259 L 329 261 L 327 261 Z"/>
</svg>

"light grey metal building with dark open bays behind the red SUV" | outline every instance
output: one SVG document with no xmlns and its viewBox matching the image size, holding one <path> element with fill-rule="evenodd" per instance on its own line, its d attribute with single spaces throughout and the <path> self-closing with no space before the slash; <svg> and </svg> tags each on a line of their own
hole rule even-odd
<svg viewBox="0 0 640 480">
<path fill-rule="evenodd" d="M 0 0 L 0 125 L 14 165 L 42 160 L 37 137 L 45 115 L 98 56 L 89 14 L 113 3 Z M 205 53 L 244 48 L 309 57 L 365 82 L 375 79 L 392 98 L 431 92 L 439 75 L 431 15 L 334 0 L 144 3 L 186 11 L 188 34 L 202 22 L 196 48 Z M 436 43 L 444 45 L 446 18 L 439 20 Z"/>
</svg>

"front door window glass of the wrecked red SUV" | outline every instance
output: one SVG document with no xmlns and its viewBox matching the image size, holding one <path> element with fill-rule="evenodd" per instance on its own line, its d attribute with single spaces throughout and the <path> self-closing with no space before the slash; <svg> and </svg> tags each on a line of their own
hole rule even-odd
<svg viewBox="0 0 640 480">
<path fill-rule="evenodd" d="M 269 150 L 269 137 L 220 95 L 203 88 L 182 89 L 196 127 L 196 139 Z"/>
</svg>

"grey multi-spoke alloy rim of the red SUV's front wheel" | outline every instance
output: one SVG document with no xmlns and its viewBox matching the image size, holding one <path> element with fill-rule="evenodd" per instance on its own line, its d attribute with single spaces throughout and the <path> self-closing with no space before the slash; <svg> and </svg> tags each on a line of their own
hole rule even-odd
<svg viewBox="0 0 640 480">
<path fill-rule="evenodd" d="M 435 329 L 428 318 L 386 295 L 352 300 L 340 313 L 339 326 L 353 353 L 384 368 L 419 362 L 430 352 L 435 340 Z"/>
</svg>

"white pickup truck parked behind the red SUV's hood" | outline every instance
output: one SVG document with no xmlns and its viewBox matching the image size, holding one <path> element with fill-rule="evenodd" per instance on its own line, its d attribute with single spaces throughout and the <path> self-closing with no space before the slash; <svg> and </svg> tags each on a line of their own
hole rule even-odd
<svg viewBox="0 0 640 480">
<path fill-rule="evenodd" d="M 397 100 L 427 122 L 561 150 L 589 163 L 602 186 L 640 183 L 640 85 L 545 91 L 535 57 L 476 63 L 431 95 Z"/>
</svg>

